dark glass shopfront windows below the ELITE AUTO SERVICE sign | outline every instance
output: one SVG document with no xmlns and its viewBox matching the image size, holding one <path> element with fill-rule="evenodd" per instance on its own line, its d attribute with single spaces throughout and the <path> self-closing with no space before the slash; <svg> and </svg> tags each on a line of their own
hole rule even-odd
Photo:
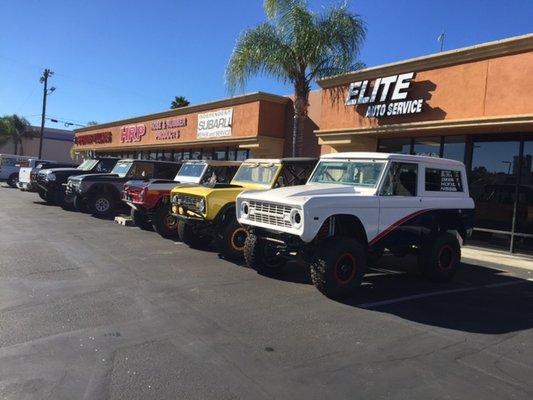
<svg viewBox="0 0 533 400">
<path fill-rule="evenodd" d="M 533 254 L 532 135 L 381 139 L 378 151 L 464 162 L 476 203 L 471 243 Z"/>
</svg>

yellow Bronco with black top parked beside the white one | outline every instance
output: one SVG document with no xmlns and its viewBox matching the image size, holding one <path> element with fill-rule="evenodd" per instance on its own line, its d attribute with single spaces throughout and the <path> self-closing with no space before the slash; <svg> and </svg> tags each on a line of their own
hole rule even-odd
<svg viewBox="0 0 533 400">
<path fill-rule="evenodd" d="M 244 190 L 302 185 L 316 163 L 315 158 L 248 159 L 229 184 L 174 188 L 170 199 L 180 239 L 193 248 L 214 241 L 224 257 L 242 256 L 248 233 L 237 222 L 237 196 Z"/>
</svg>

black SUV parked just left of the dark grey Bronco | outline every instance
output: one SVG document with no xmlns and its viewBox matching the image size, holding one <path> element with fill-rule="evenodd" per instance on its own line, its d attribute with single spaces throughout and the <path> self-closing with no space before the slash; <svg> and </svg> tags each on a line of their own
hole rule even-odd
<svg viewBox="0 0 533 400">
<path fill-rule="evenodd" d="M 117 163 L 118 158 L 90 158 L 74 168 L 48 168 L 38 171 L 35 177 L 37 189 L 41 199 L 48 203 L 64 208 L 72 205 L 71 200 L 65 196 L 65 184 L 72 175 L 103 174 L 108 173 Z"/>
</svg>

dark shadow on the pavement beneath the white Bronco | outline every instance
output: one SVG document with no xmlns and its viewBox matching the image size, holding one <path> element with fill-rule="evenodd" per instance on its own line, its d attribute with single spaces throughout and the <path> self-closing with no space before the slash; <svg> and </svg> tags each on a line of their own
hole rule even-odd
<svg viewBox="0 0 533 400">
<path fill-rule="evenodd" d="M 472 333 L 503 334 L 533 327 L 533 282 L 463 263 L 451 282 L 432 283 L 418 275 L 410 261 L 390 257 L 380 262 L 368 271 L 358 293 L 340 302 Z M 278 279 L 311 284 L 307 269 L 300 265 L 287 266 Z"/>
</svg>

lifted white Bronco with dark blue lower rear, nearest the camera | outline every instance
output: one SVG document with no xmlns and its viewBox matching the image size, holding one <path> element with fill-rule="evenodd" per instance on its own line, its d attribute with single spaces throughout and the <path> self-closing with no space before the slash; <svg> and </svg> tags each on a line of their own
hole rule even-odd
<svg viewBox="0 0 533 400">
<path fill-rule="evenodd" d="M 402 154 L 328 154 L 306 185 L 237 199 L 237 218 L 249 232 L 247 264 L 275 274 L 299 256 L 331 298 L 354 293 L 367 259 L 384 249 L 414 252 L 428 278 L 451 279 L 473 214 L 462 163 Z"/>
</svg>

